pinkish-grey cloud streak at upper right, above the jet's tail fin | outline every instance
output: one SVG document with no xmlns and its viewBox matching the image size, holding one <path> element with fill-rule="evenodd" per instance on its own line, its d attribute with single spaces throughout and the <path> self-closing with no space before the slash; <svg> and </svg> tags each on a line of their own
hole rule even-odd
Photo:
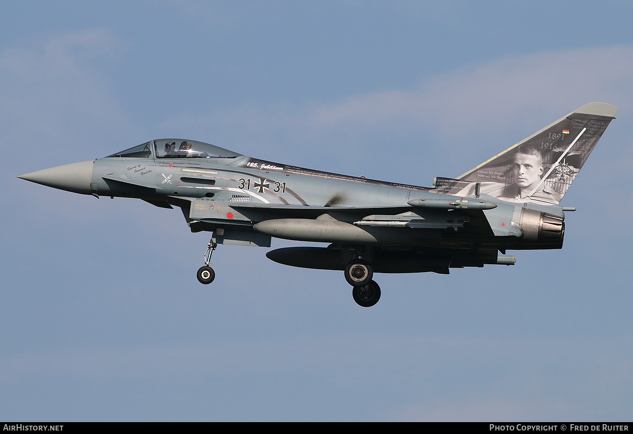
<svg viewBox="0 0 633 434">
<path fill-rule="evenodd" d="M 501 58 L 434 77 L 415 89 L 357 95 L 310 113 L 313 125 L 428 125 L 441 134 L 507 124 L 521 113 L 561 110 L 594 99 L 633 97 L 633 47 L 579 49 Z"/>
</svg>

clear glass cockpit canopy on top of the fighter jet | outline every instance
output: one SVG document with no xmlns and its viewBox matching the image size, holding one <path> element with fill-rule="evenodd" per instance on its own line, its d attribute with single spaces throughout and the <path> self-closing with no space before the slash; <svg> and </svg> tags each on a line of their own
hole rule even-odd
<svg viewBox="0 0 633 434">
<path fill-rule="evenodd" d="M 151 140 L 134 148 L 120 151 L 106 158 L 237 158 L 241 154 L 225 150 L 213 144 L 183 139 Z"/>
</svg>

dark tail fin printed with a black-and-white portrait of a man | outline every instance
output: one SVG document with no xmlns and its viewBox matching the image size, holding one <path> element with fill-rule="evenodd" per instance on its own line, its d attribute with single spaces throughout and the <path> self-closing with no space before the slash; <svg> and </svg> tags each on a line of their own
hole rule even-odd
<svg viewBox="0 0 633 434">
<path fill-rule="evenodd" d="M 617 111 L 588 103 L 457 179 L 436 177 L 434 188 L 455 196 L 558 205 Z"/>
</svg>

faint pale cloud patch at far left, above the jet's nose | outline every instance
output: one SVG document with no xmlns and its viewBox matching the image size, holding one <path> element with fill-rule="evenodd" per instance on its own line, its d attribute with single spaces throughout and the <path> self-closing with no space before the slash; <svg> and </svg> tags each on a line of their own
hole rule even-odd
<svg viewBox="0 0 633 434">
<path fill-rule="evenodd" d="M 85 146 L 88 137 L 127 124 L 105 79 L 123 44 L 108 29 L 30 41 L 0 52 L 0 125 L 11 141 L 47 149 Z M 69 131 L 73 136 L 69 137 Z M 66 155 L 67 158 L 67 155 Z"/>
</svg>

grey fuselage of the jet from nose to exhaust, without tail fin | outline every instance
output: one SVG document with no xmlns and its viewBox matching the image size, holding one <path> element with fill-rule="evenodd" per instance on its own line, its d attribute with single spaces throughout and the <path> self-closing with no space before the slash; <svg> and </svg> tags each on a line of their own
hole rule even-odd
<svg viewBox="0 0 633 434">
<path fill-rule="evenodd" d="M 470 198 L 468 208 L 469 198 L 436 193 L 433 188 L 268 162 L 192 141 L 189 143 L 194 143 L 196 153 L 161 152 L 163 147 L 179 141 L 149 141 L 94 162 L 73 163 L 29 175 L 45 172 L 49 181 L 57 182 L 47 185 L 75 193 L 141 198 L 166 208 L 175 205 L 182 208 L 192 231 L 260 231 L 300 241 L 428 248 L 478 245 L 505 250 L 560 248 L 562 244 L 562 234 L 556 242 L 543 243 L 538 228 L 531 238 L 517 236 L 517 227 L 522 219 L 525 222 L 527 214 L 532 214 L 532 226 L 542 224 L 538 221 L 541 214 L 558 216 L 562 222 L 563 212 L 555 205 L 518 205 L 484 195 Z M 51 176 L 53 171 L 55 176 Z M 473 203 L 483 203 L 483 199 L 493 203 L 494 209 L 472 209 Z M 410 205 L 447 200 L 456 201 L 458 206 L 446 209 Z M 257 208 L 258 204 L 266 208 Z M 291 215 L 283 207 L 292 210 Z M 358 212 L 354 211 L 356 208 Z M 380 211 L 381 208 L 388 208 L 389 212 Z M 296 215 L 297 212 L 303 214 Z M 399 220 L 384 214 L 395 214 Z M 424 230 L 398 227 L 411 215 L 417 221 L 424 220 L 422 226 L 418 224 Z M 257 226 L 265 221 L 269 222 Z"/>
</svg>

